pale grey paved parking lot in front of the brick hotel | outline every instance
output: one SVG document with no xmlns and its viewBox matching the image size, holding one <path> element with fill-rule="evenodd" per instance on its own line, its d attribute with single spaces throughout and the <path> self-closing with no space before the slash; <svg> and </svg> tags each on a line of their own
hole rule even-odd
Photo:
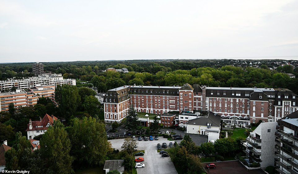
<svg viewBox="0 0 298 174">
<path fill-rule="evenodd" d="M 162 145 L 163 142 L 167 143 L 169 148 L 169 142 L 174 141 L 168 141 L 166 138 L 159 137 L 159 140 L 153 140 L 153 141 L 144 141 L 144 138 L 142 141 L 138 141 L 138 136 L 136 136 L 137 142 L 138 142 L 138 150 L 144 150 L 145 154 L 144 156 L 136 156 L 135 159 L 138 157 L 144 158 L 145 167 L 144 168 L 137 168 L 137 172 L 139 174 L 174 174 L 177 173 L 171 159 L 169 157 L 161 157 L 161 155 L 157 152 L 157 143 L 160 143 Z M 109 140 L 112 143 L 112 147 L 115 149 L 119 149 L 121 151 L 121 146 L 124 142 L 124 139 L 114 139 Z M 166 150 L 165 150 L 166 151 Z"/>
</svg>

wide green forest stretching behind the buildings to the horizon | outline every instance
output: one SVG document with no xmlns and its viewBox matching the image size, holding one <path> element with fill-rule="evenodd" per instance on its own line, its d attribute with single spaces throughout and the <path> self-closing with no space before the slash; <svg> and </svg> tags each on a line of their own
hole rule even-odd
<svg viewBox="0 0 298 174">
<path fill-rule="evenodd" d="M 291 65 L 287 65 L 290 62 Z M 251 63 L 251 64 L 250 64 Z M 0 80 L 21 79 L 31 74 L 33 63 L 0 64 Z M 44 71 L 77 79 L 77 86 L 97 87 L 98 92 L 123 85 L 182 86 L 185 83 L 210 87 L 274 87 L 298 92 L 297 61 L 285 60 L 127 60 L 43 62 Z M 127 68 L 129 73 L 103 72 Z M 87 83 L 81 83 L 87 82 Z"/>
</svg>

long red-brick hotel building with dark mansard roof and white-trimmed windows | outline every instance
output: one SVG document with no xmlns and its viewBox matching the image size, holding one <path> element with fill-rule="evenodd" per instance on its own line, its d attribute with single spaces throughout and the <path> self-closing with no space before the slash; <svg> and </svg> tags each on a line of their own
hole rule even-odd
<svg viewBox="0 0 298 174">
<path fill-rule="evenodd" d="M 216 112 L 222 118 L 270 122 L 298 110 L 297 102 L 297 95 L 288 89 L 206 87 L 188 83 L 182 87 L 122 86 L 108 90 L 103 100 L 106 122 L 121 122 L 130 105 L 138 112 L 160 115 L 203 110 Z"/>
</svg>

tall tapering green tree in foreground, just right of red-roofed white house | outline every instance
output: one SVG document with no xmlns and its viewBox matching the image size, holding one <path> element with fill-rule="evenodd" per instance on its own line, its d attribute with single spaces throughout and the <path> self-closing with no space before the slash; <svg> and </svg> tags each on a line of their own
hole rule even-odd
<svg viewBox="0 0 298 174">
<path fill-rule="evenodd" d="M 58 120 L 40 140 L 41 156 L 48 173 L 72 173 L 73 157 L 69 155 L 71 142 L 64 125 Z"/>
</svg>

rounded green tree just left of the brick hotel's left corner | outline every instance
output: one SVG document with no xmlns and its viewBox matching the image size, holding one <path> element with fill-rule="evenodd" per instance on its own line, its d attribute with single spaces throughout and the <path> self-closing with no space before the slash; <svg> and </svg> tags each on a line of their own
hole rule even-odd
<svg viewBox="0 0 298 174">
<path fill-rule="evenodd" d="M 98 114 L 100 103 L 93 95 L 85 96 L 83 107 L 85 111 L 93 117 L 95 114 Z"/>
</svg>

